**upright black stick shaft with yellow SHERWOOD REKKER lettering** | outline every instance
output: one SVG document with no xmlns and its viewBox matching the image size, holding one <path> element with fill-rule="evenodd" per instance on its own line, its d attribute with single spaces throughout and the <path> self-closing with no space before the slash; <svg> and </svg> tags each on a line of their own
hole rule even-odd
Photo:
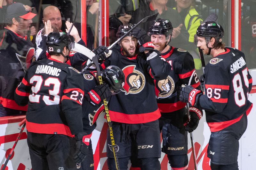
<svg viewBox="0 0 256 170">
<path fill-rule="evenodd" d="M 96 65 L 96 70 L 97 70 L 97 73 L 98 73 L 99 82 L 100 82 L 100 85 L 102 85 L 103 81 L 102 81 L 100 66 L 99 66 L 99 62 L 98 62 L 97 57 L 93 57 L 92 62 L 95 63 L 95 65 Z M 111 122 L 110 117 L 109 117 L 108 104 L 107 104 L 106 99 L 103 100 L 103 104 L 104 104 L 105 114 L 106 114 L 107 123 L 108 123 L 108 130 L 109 130 L 109 135 L 110 135 L 110 140 L 111 140 L 112 151 L 113 151 L 113 155 L 114 155 L 114 159 L 115 159 L 116 170 L 120 170 L 119 162 L 118 162 L 118 158 L 117 158 L 116 144 L 115 144 L 113 131 L 112 131 L 112 122 Z"/>
</svg>

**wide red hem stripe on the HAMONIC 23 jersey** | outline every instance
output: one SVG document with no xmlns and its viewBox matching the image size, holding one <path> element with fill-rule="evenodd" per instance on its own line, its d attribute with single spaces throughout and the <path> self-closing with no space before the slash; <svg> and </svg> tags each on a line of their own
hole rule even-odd
<svg viewBox="0 0 256 170">
<path fill-rule="evenodd" d="M 74 137 L 71 134 L 71 131 L 67 125 L 60 124 L 60 123 L 47 123 L 47 124 L 39 124 L 28 122 L 26 120 L 26 128 L 29 132 L 33 133 L 43 133 L 43 134 L 61 134 L 67 135 L 69 137 Z"/>
</svg>

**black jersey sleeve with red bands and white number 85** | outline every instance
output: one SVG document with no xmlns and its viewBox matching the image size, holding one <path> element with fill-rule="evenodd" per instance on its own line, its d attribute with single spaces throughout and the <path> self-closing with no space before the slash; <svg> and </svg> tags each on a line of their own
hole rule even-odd
<svg viewBox="0 0 256 170">
<path fill-rule="evenodd" d="M 204 89 L 205 94 L 199 98 L 199 104 L 202 109 L 214 113 L 222 112 L 228 102 L 228 71 L 220 66 L 210 66 L 205 72 Z"/>
</svg>

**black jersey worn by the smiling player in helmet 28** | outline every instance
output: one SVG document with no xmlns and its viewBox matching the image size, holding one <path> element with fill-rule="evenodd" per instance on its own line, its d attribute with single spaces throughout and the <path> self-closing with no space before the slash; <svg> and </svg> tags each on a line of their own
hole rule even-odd
<svg viewBox="0 0 256 170">
<path fill-rule="evenodd" d="M 167 78 L 155 81 L 157 105 L 161 113 L 170 113 L 186 106 L 179 100 L 177 87 L 187 84 L 193 74 L 190 85 L 200 90 L 200 82 L 195 71 L 192 55 L 181 48 L 170 47 L 162 57 L 172 66 Z"/>
</svg>

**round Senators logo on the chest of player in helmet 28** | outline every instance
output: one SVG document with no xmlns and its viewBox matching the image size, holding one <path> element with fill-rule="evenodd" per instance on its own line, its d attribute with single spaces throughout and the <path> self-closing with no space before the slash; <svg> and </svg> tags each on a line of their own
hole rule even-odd
<svg viewBox="0 0 256 170">
<path fill-rule="evenodd" d="M 175 84 L 170 76 L 163 80 L 155 80 L 155 92 L 157 99 L 169 97 L 173 93 L 174 89 Z"/>
</svg>

